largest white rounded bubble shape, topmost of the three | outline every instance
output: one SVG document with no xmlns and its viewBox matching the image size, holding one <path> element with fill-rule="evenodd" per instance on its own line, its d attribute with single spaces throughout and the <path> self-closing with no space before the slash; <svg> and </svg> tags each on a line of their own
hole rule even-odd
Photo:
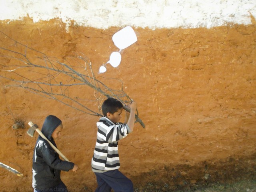
<svg viewBox="0 0 256 192">
<path fill-rule="evenodd" d="M 137 41 L 137 36 L 132 27 L 127 26 L 121 29 L 120 31 L 116 32 L 113 35 L 112 40 L 115 46 L 117 46 L 120 49 L 125 49 Z"/>
</svg>

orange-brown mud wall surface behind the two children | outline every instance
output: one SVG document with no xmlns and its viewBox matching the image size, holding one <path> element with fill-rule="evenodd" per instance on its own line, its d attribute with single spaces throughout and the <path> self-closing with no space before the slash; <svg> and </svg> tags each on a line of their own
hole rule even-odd
<svg viewBox="0 0 256 192">
<path fill-rule="evenodd" d="M 96 76 L 123 82 L 146 125 L 137 123 L 119 142 L 120 171 L 136 188 L 188 189 L 255 176 L 255 22 L 210 29 L 134 28 L 138 41 L 122 50 L 120 66 L 108 65 L 105 74 L 98 74 L 110 54 L 118 51 L 112 35 L 120 29 L 73 25 L 66 32 L 59 20 L 33 23 L 29 18 L 0 23 L 0 30 L 18 42 L 48 56 L 82 53 L 91 60 Z M 8 65 L 8 59 L 1 58 L 4 70 L 2 64 Z M 58 148 L 80 167 L 77 173 L 62 172 L 63 182 L 70 192 L 94 190 L 90 160 L 99 117 L 22 88 L 5 87 L 8 84 L 0 79 L 0 162 L 23 177 L 0 168 L 1 191 L 32 191 L 38 134 L 31 138 L 26 130 L 29 121 L 42 127 L 49 114 L 64 124 Z M 86 88 L 83 91 L 87 93 Z M 23 120 L 25 129 L 13 130 L 14 119 Z"/>
</svg>

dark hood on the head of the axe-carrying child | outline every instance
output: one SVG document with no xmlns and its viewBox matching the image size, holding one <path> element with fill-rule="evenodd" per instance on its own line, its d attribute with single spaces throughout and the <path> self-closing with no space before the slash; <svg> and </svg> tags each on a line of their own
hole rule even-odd
<svg viewBox="0 0 256 192">
<path fill-rule="evenodd" d="M 42 127 L 41 132 L 50 140 L 52 138 L 52 132 L 61 124 L 61 120 L 54 116 L 54 115 L 49 115 L 46 117 L 44 120 L 44 124 Z"/>
</svg>

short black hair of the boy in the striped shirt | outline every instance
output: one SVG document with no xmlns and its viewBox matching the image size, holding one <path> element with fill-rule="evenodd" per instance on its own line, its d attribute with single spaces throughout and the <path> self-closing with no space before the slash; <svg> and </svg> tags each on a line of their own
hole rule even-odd
<svg viewBox="0 0 256 192">
<path fill-rule="evenodd" d="M 123 108 L 123 104 L 112 97 L 107 98 L 101 106 L 102 113 L 104 116 L 107 116 L 108 112 L 114 114 L 114 112 L 117 112 L 120 108 Z"/>
</svg>

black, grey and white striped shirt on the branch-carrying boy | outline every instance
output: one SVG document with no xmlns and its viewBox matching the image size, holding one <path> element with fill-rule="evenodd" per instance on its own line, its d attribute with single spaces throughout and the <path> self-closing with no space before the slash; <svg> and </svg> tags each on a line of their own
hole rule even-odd
<svg viewBox="0 0 256 192">
<path fill-rule="evenodd" d="M 92 157 L 92 171 L 106 172 L 120 167 L 118 141 L 132 132 L 127 124 L 114 124 L 106 117 L 97 122 L 97 142 Z"/>
</svg>

